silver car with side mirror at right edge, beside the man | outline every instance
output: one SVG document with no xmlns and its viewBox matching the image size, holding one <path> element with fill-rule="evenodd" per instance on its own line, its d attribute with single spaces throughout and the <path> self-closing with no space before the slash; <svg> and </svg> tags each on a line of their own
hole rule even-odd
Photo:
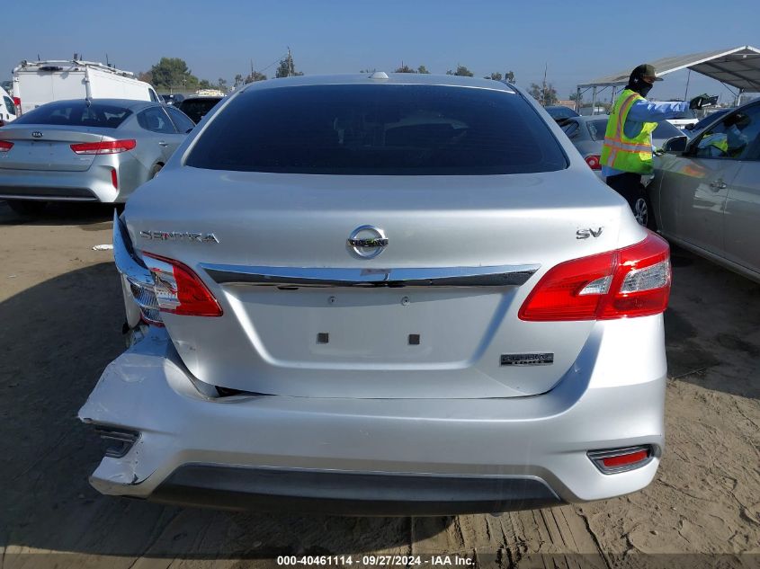
<svg viewBox="0 0 760 569">
<path fill-rule="evenodd" d="M 758 133 L 760 101 L 730 111 L 686 145 L 668 145 L 649 194 L 662 235 L 760 282 Z"/>
</svg>

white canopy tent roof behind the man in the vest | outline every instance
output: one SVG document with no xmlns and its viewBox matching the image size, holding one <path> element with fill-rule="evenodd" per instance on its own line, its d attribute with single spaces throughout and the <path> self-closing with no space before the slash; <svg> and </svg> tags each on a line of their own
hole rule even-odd
<svg viewBox="0 0 760 569">
<path fill-rule="evenodd" d="M 639 62 L 640 63 L 640 62 Z M 665 76 L 681 69 L 691 69 L 703 76 L 711 77 L 720 81 L 726 88 L 734 93 L 737 102 L 745 91 L 760 92 L 760 49 L 752 46 L 741 46 L 734 49 L 720 49 L 719 51 L 707 51 L 694 53 L 688 56 L 650 61 L 657 70 L 657 76 Z M 577 85 L 576 111 L 578 111 L 581 95 L 592 89 L 592 109 L 595 107 L 596 95 L 607 88 L 612 88 L 612 100 L 615 92 L 628 84 L 630 70 L 638 64 L 631 65 L 627 70 L 611 76 L 604 76 Z M 736 89 L 734 91 L 733 89 Z"/>
</svg>

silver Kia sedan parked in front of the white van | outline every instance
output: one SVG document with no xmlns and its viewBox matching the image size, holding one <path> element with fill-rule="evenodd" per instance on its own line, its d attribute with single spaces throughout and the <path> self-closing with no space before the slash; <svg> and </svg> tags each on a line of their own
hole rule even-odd
<svg viewBox="0 0 760 569">
<path fill-rule="evenodd" d="M 192 127 L 182 112 L 156 102 L 42 105 L 0 129 L 0 199 L 27 215 L 48 201 L 123 202 Z"/>
</svg>

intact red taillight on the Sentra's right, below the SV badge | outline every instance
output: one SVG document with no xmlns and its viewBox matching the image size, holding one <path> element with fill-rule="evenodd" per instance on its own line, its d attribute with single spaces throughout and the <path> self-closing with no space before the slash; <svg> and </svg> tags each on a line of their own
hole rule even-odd
<svg viewBox="0 0 760 569">
<path fill-rule="evenodd" d="M 559 263 L 531 291 L 521 320 L 612 320 L 664 312 L 670 297 L 670 248 L 648 232 L 641 242 Z"/>
</svg>

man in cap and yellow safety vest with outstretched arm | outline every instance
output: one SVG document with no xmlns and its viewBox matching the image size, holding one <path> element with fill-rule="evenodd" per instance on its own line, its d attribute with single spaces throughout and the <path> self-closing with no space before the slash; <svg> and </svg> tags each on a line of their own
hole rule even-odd
<svg viewBox="0 0 760 569">
<path fill-rule="evenodd" d="M 604 133 L 602 174 L 607 185 L 630 204 L 633 215 L 641 225 L 648 225 L 648 199 L 641 185 L 641 175 L 652 173 L 652 131 L 661 120 L 675 119 L 688 109 L 702 109 L 708 95 L 691 101 L 649 102 L 647 93 L 657 77 L 655 68 L 642 64 L 630 74 L 628 84 L 610 109 L 610 119 Z"/>
</svg>

